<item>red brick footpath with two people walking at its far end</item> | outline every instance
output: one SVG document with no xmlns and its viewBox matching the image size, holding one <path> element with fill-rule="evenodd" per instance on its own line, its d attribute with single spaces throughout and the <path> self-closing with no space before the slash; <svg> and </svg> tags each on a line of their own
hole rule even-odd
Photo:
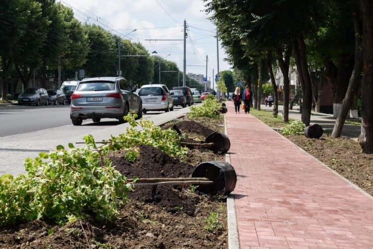
<svg viewBox="0 0 373 249">
<path fill-rule="evenodd" d="M 240 246 L 373 248 L 373 200 L 228 104 Z"/>
</svg>

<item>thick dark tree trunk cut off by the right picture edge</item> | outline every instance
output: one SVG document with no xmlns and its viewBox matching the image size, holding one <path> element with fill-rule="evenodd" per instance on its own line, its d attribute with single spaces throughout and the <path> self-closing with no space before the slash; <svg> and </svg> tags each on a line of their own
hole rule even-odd
<svg viewBox="0 0 373 249">
<path fill-rule="evenodd" d="M 373 153 L 373 2 L 360 0 L 363 19 L 362 131 L 359 143 L 365 153 Z"/>
</svg>

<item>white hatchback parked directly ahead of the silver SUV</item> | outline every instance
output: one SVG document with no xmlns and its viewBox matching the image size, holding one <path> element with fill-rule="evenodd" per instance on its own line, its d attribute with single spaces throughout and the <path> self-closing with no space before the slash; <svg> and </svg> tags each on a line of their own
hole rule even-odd
<svg viewBox="0 0 373 249">
<path fill-rule="evenodd" d="M 147 111 L 174 111 L 174 100 L 170 91 L 165 85 L 143 85 L 140 88 L 139 96 L 142 100 L 142 112 Z"/>
</svg>

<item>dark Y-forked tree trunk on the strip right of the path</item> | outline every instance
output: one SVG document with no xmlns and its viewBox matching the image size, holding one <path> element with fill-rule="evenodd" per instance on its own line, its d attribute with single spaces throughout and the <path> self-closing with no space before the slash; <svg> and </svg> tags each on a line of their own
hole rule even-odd
<svg viewBox="0 0 373 249">
<path fill-rule="evenodd" d="M 289 64 L 291 56 L 291 46 L 287 46 L 285 56 L 282 55 L 280 48 L 276 49 L 277 59 L 283 76 L 283 122 L 289 122 Z"/>
</svg>

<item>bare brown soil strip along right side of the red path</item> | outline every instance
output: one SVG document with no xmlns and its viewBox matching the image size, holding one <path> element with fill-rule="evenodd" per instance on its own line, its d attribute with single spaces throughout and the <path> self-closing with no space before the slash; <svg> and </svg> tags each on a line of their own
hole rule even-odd
<svg viewBox="0 0 373 249">
<path fill-rule="evenodd" d="M 362 153 L 356 141 L 324 134 L 319 139 L 303 135 L 286 136 L 330 168 L 373 195 L 373 154 Z"/>
</svg>

